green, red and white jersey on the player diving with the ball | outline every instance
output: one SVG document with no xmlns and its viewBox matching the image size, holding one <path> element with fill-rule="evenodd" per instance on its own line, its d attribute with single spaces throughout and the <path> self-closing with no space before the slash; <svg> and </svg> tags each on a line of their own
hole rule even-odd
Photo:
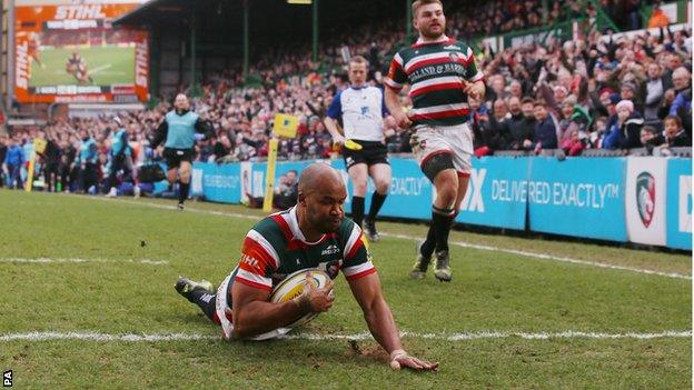
<svg viewBox="0 0 694 390">
<path fill-rule="evenodd" d="M 376 272 L 361 229 L 345 218 L 335 232 L 307 242 L 299 229 L 296 207 L 264 218 L 246 234 L 235 282 L 271 291 L 288 274 L 318 268 L 347 280 Z"/>
</svg>

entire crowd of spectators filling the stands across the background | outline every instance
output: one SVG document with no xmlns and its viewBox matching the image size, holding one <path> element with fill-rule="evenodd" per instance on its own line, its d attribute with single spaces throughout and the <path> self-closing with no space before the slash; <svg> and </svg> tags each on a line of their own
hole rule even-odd
<svg viewBox="0 0 694 390">
<path fill-rule="evenodd" d="M 474 10 L 486 18 L 449 17 L 449 33 L 462 39 L 474 30 L 492 28 L 494 33 L 535 23 L 538 16 L 532 16 L 538 13 L 539 1 L 510 2 L 513 7 L 506 7 L 508 3 L 489 2 Z M 556 12 L 578 12 L 577 6 L 569 6 Z M 559 13 L 552 13 L 553 18 Z M 502 18 L 500 23 L 497 18 Z M 390 60 L 386 53 L 404 34 L 388 34 L 384 29 L 350 37 L 326 48 L 324 62 L 344 64 L 340 57 L 348 47 L 351 56 L 370 59 L 370 82 L 381 86 L 383 64 Z M 274 56 L 282 60 L 274 61 Z M 543 44 L 500 52 L 483 47 L 477 66 L 485 73 L 487 94 L 484 101 L 469 102 L 475 153 L 562 149 L 568 156 L 578 156 L 585 149 L 646 148 L 661 152 L 668 147 L 691 146 L 691 31 L 667 28 L 660 33 L 618 39 L 592 31 L 579 40 L 549 38 Z M 333 97 L 348 86 L 347 77 L 339 68 L 319 69 L 309 60 L 308 50 L 290 56 L 272 52 L 251 69 L 259 76 L 260 88 L 244 88 L 236 69 L 207 80 L 201 97 L 192 99 L 192 103 L 204 119 L 211 121 L 215 137 L 198 143 L 197 160 L 221 163 L 266 157 L 277 112 L 295 114 L 300 122 L 297 138 L 280 142 L 280 159 L 337 157 L 339 151 L 334 150 L 321 119 Z M 403 97 L 403 104 L 410 104 L 407 97 Z M 13 167 L 27 161 L 36 137 L 49 143 L 40 166 L 49 173 L 46 181 L 51 190 L 77 190 L 81 133 L 95 140 L 100 179 L 108 176 L 110 136 L 121 126 L 128 131 L 137 164 L 157 159 L 159 152 L 149 148 L 149 139 L 170 109 L 165 101 L 150 110 L 122 112 L 120 124 L 106 117 L 59 119 L 41 129 L 0 138 L 6 181 L 13 177 Z M 384 140 L 388 150 L 408 152 L 409 130 L 391 130 Z"/>
</svg>

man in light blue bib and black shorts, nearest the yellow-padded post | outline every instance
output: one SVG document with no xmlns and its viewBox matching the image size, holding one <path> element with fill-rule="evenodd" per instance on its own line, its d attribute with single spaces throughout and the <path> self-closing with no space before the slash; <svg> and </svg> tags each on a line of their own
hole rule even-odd
<svg viewBox="0 0 694 390">
<path fill-rule="evenodd" d="M 163 143 L 163 158 L 169 171 L 167 180 L 171 186 L 178 176 L 178 209 L 184 210 L 184 202 L 188 198 L 190 189 L 190 170 L 195 156 L 196 132 L 209 139 L 212 136 L 212 127 L 209 121 L 200 119 L 200 116 L 190 111 L 188 98 L 179 93 L 174 101 L 174 110 L 169 111 L 161 124 L 157 128 L 152 149 Z"/>
</svg>

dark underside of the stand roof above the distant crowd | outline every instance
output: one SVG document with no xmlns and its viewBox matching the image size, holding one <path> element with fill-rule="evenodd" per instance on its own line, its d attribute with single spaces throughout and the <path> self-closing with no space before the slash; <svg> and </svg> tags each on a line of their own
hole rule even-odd
<svg viewBox="0 0 694 390">
<path fill-rule="evenodd" d="M 321 40 L 334 32 L 375 24 L 383 20 L 401 20 L 405 6 L 393 0 L 319 0 Z M 249 32 L 252 44 L 310 42 L 311 7 L 288 4 L 286 0 L 250 0 Z M 187 34 L 195 14 L 200 42 L 239 43 L 242 39 L 244 0 L 151 0 L 121 16 L 113 24 L 145 27 Z"/>
</svg>

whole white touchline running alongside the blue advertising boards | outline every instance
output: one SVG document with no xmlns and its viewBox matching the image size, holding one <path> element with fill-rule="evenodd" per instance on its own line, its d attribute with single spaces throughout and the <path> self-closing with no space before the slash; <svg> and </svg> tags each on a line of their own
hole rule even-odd
<svg viewBox="0 0 694 390">
<path fill-rule="evenodd" d="M 118 201 L 118 202 L 122 202 L 122 203 L 145 206 L 145 207 L 150 207 L 150 208 L 156 208 L 156 209 L 178 210 L 175 206 L 157 204 L 157 203 L 151 203 L 151 202 L 138 202 L 138 201 L 135 201 L 135 200 L 126 200 L 126 199 L 107 199 L 107 198 L 101 198 L 101 197 L 87 197 L 87 198 L 88 199 L 100 199 L 100 200 L 107 200 L 107 201 Z M 216 210 L 201 210 L 201 209 L 190 209 L 190 208 L 188 208 L 188 209 L 186 209 L 185 212 L 195 212 L 195 213 L 200 213 L 200 214 L 212 214 L 212 216 L 222 216 L 222 217 L 231 217 L 231 218 L 244 218 L 244 219 L 251 219 L 251 220 L 256 220 L 256 221 L 260 219 L 257 216 L 248 216 L 248 214 L 242 214 L 242 213 L 224 212 L 224 211 L 216 211 Z M 406 236 L 406 234 L 394 234 L 394 233 L 387 233 L 387 232 L 380 232 L 380 236 L 395 238 L 395 239 L 400 239 L 400 240 L 410 240 L 410 241 L 420 241 L 422 240 L 420 237 Z M 526 257 L 526 258 L 531 258 L 531 259 L 552 260 L 552 261 L 558 261 L 558 262 L 565 262 L 565 263 L 573 263 L 573 264 L 581 264 L 581 266 L 588 266 L 588 267 L 597 267 L 597 268 L 605 268 L 605 269 L 628 271 L 628 272 L 637 272 L 637 273 L 644 273 L 644 274 L 653 274 L 653 276 L 672 278 L 672 279 L 692 280 L 691 276 L 683 274 L 683 273 L 677 273 L 677 272 L 661 272 L 661 271 L 653 271 L 653 270 L 643 269 L 643 268 L 606 264 L 606 263 L 597 262 L 597 261 L 578 260 L 578 259 L 572 259 L 572 258 L 561 257 L 561 256 L 553 256 L 553 254 L 547 254 L 547 253 L 527 252 L 527 251 L 522 251 L 522 250 L 516 250 L 516 249 L 507 249 L 507 248 L 492 247 L 492 246 L 480 246 L 480 244 L 469 243 L 469 242 L 465 242 L 465 241 L 450 241 L 449 243 L 453 244 L 453 246 L 456 246 L 456 247 L 462 247 L 462 248 L 470 248 L 470 249 L 486 250 L 486 251 L 493 251 L 493 252 L 510 253 L 510 254 L 517 254 L 517 256 L 522 256 L 522 257 Z"/>
</svg>

